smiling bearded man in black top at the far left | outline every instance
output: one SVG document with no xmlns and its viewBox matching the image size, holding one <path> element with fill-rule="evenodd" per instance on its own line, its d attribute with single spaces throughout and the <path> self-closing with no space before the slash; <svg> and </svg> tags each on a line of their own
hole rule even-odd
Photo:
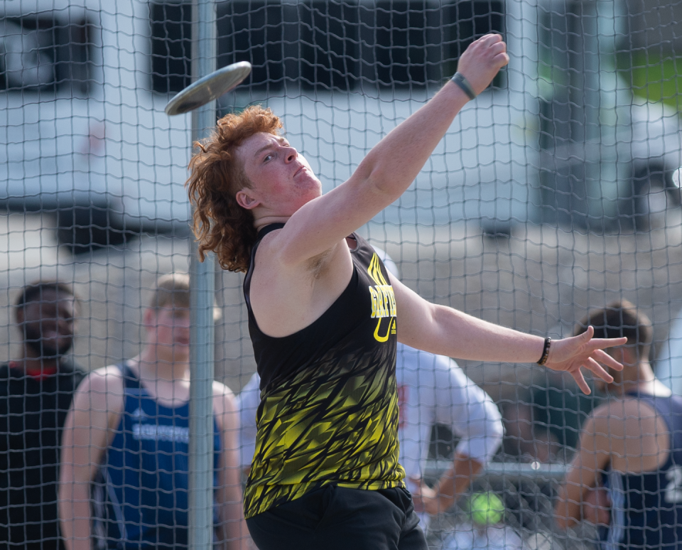
<svg viewBox="0 0 682 550">
<path fill-rule="evenodd" d="M 65 357 L 76 326 L 70 286 L 38 281 L 15 302 L 21 352 L 0 367 L 0 543 L 60 550 L 59 445 L 73 392 L 83 378 Z"/>
</svg>

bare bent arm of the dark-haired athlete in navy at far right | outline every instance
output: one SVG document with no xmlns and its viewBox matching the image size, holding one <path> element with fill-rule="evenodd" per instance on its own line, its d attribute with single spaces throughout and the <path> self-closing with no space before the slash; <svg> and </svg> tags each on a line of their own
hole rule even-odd
<svg viewBox="0 0 682 550">
<path fill-rule="evenodd" d="M 608 418 L 608 407 L 601 406 L 592 411 L 585 421 L 580 434 L 580 448 L 570 462 L 554 507 L 556 523 L 563 529 L 585 519 L 585 496 L 599 485 L 600 471 L 605 470 L 609 463 L 610 434 L 607 425 L 600 426 Z"/>
</svg>

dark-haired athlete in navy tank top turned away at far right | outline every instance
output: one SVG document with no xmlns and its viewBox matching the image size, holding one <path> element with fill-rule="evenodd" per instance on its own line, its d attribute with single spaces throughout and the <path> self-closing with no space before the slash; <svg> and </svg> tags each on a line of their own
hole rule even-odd
<svg viewBox="0 0 682 550">
<path fill-rule="evenodd" d="M 682 398 L 649 364 L 651 323 L 617 301 L 578 325 L 603 338 L 627 338 L 608 350 L 624 365 L 614 382 L 595 381 L 612 399 L 588 416 L 556 504 L 567 528 L 596 524 L 603 550 L 682 549 Z"/>
</svg>

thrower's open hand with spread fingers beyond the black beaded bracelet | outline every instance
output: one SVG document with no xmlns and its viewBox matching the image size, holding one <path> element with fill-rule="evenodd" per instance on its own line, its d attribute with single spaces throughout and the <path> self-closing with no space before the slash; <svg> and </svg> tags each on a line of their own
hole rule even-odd
<svg viewBox="0 0 682 550">
<path fill-rule="evenodd" d="M 594 335 L 595 329 L 588 327 L 583 334 L 552 342 L 549 357 L 545 363 L 548 369 L 568 372 L 575 378 L 575 382 L 578 382 L 578 386 L 585 394 L 590 394 L 590 387 L 585 382 L 580 367 L 591 370 L 595 376 L 608 384 L 613 382 L 613 377 L 604 370 L 602 365 L 613 370 L 623 370 L 623 365 L 604 350 L 623 345 L 627 342 L 627 338 L 592 338 Z"/>
</svg>

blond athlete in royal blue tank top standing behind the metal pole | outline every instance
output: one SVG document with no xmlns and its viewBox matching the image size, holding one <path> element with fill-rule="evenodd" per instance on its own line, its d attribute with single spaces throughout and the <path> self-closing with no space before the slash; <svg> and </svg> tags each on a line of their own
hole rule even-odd
<svg viewBox="0 0 682 550">
<path fill-rule="evenodd" d="M 68 550 L 188 547 L 189 278 L 161 277 L 138 357 L 95 370 L 65 421 L 60 519 Z M 232 392 L 213 386 L 215 541 L 246 549 Z"/>
</svg>

